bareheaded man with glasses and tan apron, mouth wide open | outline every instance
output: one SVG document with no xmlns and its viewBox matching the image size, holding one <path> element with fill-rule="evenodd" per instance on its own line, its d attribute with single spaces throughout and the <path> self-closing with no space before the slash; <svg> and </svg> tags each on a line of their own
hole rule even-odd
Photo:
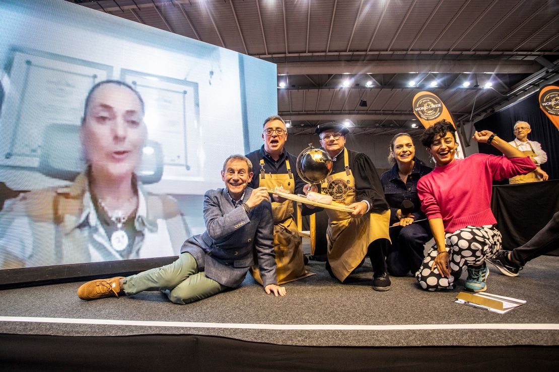
<svg viewBox="0 0 559 372">
<path fill-rule="evenodd" d="M 287 127 L 278 115 L 264 120 L 263 146 L 247 154 L 254 165 L 254 177 L 249 187 L 282 189 L 290 194 L 303 194 L 309 186 L 297 174 L 297 158 L 285 151 Z M 314 275 L 305 269 L 301 238 L 293 220 L 293 201 L 272 195 L 274 219 L 274 253 L 278 283 L 283 284 Z M 261 283 L 258 265 L 250 270 L 255 281 Z"/>
</svg>

